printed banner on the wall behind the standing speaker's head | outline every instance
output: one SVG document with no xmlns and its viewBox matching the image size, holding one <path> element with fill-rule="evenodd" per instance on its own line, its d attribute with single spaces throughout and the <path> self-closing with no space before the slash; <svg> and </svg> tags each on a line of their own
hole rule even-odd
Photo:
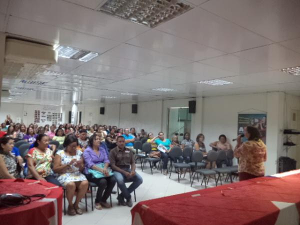
<svg viewBox="0 0 300 225">
<path fill-rule="evenodd" d="M 266 135 L 266 113 L 238 113 L 237 118 L 237 135 L 244 132 L 244 127 L 254 126 L 261 135 L 261 140 L 265 143 Z M 243 137 L 245 141 L 245 137 Z"/>
</svg>

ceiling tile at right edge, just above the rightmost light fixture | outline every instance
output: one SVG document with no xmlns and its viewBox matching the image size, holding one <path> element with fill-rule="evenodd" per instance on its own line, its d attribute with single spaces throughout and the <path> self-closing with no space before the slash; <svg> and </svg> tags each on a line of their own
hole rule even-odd
<svg viewBox="0 0 300 225">
<path fill-rule="evenodd" d="M 242 58 L 265 63 L 274 69 L 298 66 L 300 54 L 279 44 L 270 44 L 234 53 Z"/>
</svg>

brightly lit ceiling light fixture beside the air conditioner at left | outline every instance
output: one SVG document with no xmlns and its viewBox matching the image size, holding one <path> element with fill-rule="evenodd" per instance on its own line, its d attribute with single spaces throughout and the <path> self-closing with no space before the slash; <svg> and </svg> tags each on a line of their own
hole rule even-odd
<svg viewBox="0 0 300 225">
<path fill-rule="evenodd" d="M 58 56 L 63 58 L 71 58 L 79 61 L 89 61 L 94 57 L 98 56 L 97 52 L 92 52 L 89 50 L 82 50 L 70 46 L 59 45 L 55 48 L 58 51 Z"/>
</svg>

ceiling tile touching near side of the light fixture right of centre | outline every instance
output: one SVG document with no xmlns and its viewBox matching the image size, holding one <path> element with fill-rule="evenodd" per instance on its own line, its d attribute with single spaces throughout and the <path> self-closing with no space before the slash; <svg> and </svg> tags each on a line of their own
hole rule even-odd
<svg viewBox="0 0 300 225">
<path fill-rule="evenodd" d="M 235 72 L 225 71 L 211 65 L 202 64 L 200 62 L 192 62 L 186 65 L 177 66 L 174 67 L 174 69 L 197 74 L 199 75 L 198 80 L 215 79 L 220 77 L 238 75 Z"/>
</svg>

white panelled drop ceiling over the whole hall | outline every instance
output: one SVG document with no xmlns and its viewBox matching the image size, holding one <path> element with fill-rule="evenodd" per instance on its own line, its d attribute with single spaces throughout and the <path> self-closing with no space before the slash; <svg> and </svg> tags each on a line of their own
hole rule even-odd
<svg viewBox="0 0 300 225">
<path fill-rule="evenodd" d="M 98 11 L 105 0 L 0 0 L 0 31 L 99 54 L 88 62 L 59 57 L 45 73 L 4 74 L 2 89 L 11 96 L 1 100 L 70 104 L 73 91 L 89 105 L 266 91 L 300 96 L 300 76 L 279 71 L 300 65 L 299 0 L 183 2 L 192 9 L 150 28 Z M 197 83 L 210 79 L 232 84 Z M 175 91 L 153 90 L 160 87 Z"/>
</svg>

